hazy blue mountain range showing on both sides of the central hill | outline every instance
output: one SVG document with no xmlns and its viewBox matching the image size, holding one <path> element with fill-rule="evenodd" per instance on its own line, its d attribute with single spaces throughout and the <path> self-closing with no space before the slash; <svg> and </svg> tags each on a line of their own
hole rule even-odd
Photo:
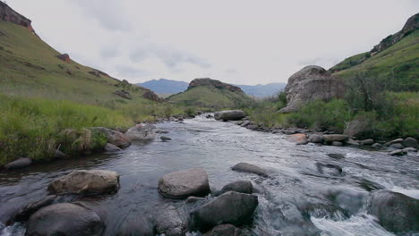
<svg viewBox="0 0 419 236">
<path fill-rule="evenodd" d="M 140 86 L 151 89 L 158 94 L 176 94 L 188 89 L 188 83 L 176 80 L 149 80 L 139 83 Z M 244 93 L 254 97 L 269 97 L 286 87 L 286 83 L 269 83 L 266 85 L 236 85 Z"/>
</svg>

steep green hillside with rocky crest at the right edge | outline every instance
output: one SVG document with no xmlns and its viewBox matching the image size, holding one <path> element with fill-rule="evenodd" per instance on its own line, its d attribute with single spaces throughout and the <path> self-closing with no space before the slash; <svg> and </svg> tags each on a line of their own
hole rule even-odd
<svg viewBox="0 0 419 236">
<path fill-rule="evenodd" d="M 346 58 L 330 68 L 334 75 L 352 79 L 362 74 L 393 91 L 419 89 L 419 13 L 402 30 L 381 40 L 370 52 Z"/>
</svg>

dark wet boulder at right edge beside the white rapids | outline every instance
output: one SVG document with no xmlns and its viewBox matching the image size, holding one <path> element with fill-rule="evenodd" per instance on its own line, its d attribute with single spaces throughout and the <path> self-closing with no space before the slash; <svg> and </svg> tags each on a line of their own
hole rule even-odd
<svg viewBox="0 0 419 236">
<path fill-rule="evenodd" d="M 389 232 L 419 231 L 419 200 L 388 190 L 372 194 L 370 211 Z"/>
</svg>

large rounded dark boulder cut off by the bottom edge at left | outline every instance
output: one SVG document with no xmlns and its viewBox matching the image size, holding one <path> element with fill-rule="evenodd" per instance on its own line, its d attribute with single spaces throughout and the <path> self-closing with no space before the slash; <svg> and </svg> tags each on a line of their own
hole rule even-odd
<svg viewBox="0 0 419 236">
<path fill-rule="evenodd" d="M 105 224 L 93 211 L 71 203 L 59 203 L 30 216 L 25 235 L 100 236 Z"/>
</svg>

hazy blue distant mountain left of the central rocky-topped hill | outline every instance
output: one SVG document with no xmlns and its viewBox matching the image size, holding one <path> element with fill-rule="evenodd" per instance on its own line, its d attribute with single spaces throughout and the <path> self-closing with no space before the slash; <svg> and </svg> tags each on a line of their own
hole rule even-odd
<svg viewBox="0 0 419 236">
<path fill-rule="evenodd" d="M 138 85 L 151 89 L 158 94 L 176 94 L 188 89 L 189 84 L 184 81 L 160 79 L 149 80 Z"/>
</svg>

